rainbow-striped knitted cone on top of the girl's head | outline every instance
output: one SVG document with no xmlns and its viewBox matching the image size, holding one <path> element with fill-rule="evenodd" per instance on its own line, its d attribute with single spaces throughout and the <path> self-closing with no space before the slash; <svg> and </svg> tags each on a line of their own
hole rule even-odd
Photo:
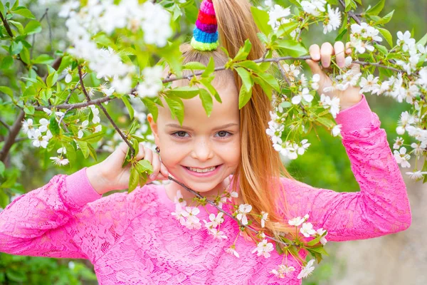
<svg viewBox="0 0 427 285">
<path fill-rule="evenodd" d="M 196 27 L 193 30 L 191 46 L 199 51 L 214 51 L 218 48 L 218 31 L 212 0 L 201 2 Z"/>
</svg>

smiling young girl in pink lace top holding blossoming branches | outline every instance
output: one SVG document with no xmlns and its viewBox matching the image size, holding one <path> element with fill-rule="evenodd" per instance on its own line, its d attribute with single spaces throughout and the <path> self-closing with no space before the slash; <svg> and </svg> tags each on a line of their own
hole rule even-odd
<svg viewBox="0 0 427 285">
<path fill-rule="evenodd" d="M 216 23 L 221 45 L 231 57 L 246 39 L 252 43 L 248 58 L 263 56 L 247 0 L 205 0 L 196 23 L 201 31 L 195 31 L 191 46 L 181 48 L 184 62 L 207 64 L 213 57 L 216 66 L 226 63 L 226 56 L 214 49 Z M 310 47 L 312 61 L 307 63 L 321 76 L 320 90 L 328 81 L 318 63 L 327 68 L 332 54 L 344 66 L 342 42 Z M 288 175 L 265 133 L 270 101 L 255 86 L 251 100 L 239 110 L 240 86 L 231 71 L 216 73 L 214 87 L 222 103 L 214 102 L 209 118 L 199 98 L 184 100 L 182 126 L 172 120 L 168 108 L 159 109 L 156 122 L 148 116 L 159 152 L 141 145 L 137 154 L 137 160 L 153 165 L 148 182 L 170 175 L 205 197 L 225 191 L 236 204 L 251 204 L 251 214 L 243 214 L 253 222 L 251 227 L 262 229 L 265 223 L 270 232 L 286 232 L 293 228 L 289 219 L 306 214 L 315 229 L 327 229 L 329 241 L 369 239 L 409 227 L 411 209 L 399 167 L 379 118 L 359 88 L 331 95 L 341 99 L 336 121 L 342 124 L 343 145 L 361 191 L 334 192 Z M 224 216 L 216 232 L 201 227 L 200 221 L 214 222 L 209 214 L 216 216 L 217 209 L 194 205 L 194 195 L 176 182 L 148 183 L 130 194 L 102 197 L 127 187 L 129 169 L 121 167 L 126 152 L 122 143 L 99 164 L 73 175 L 56 175 L 15 199 L 0 213 L 0 251 L 89 259 L 103 285 L 301 284 L 300 261 L 275 251 L 268 258 L 252 253 L 256 244 L 241 237 L 233 219 Z M 317 171 L 322 171 L 319 163 Z M 233 211 L 226 199 L 221 202 L 224 210 Z M 261 221 L 265 213 L 268 219 Z M 307 256 L 305 250 L 299 254 Z"/>
</svg>

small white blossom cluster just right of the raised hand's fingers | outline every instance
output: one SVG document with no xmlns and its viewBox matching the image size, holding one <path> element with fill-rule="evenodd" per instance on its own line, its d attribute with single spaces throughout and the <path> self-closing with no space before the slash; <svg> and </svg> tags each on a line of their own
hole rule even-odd
<svg viewBox="0 0 427 285">
<path fill-rule="evenodd" d="M 350 45 L 356 48 L 358 53 L 364 53 L 365 51 L 374 51 L 372 46 L 374 41 L 382 41 L 382 38 L 378 36 L 379 31 L 373 26 L 369 26 L 367 23 L 352 24 L 352 33 L 350 34 Z"/>
</svg>

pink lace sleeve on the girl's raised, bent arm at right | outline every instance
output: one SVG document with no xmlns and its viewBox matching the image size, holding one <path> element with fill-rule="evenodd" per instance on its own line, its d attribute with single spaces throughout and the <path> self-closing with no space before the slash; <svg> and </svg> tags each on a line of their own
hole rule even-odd
<svg viewBox="0 0 427 285">
<path fill-rule="evenodd" d="M 309 214 L 308 222 L 315 229 L 327 229 L 330 241 L 369 239 L 407 229 L 412 216 L 406 185 L 386 132 L 379 128 L 379 118 L 364 95 L 336 121 L 342 124 L 342 143 L 360 192 L 335 192 L 282 178 L 291 214 Z"/>
</svg>

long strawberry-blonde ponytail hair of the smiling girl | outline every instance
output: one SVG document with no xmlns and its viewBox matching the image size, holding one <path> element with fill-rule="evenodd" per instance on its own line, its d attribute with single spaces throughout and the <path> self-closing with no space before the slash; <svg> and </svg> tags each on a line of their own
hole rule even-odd
<svg viewBox="0 0 427 285">
<path fill-rule="evenodd" d="M 218 21 L 220 45 L 226 48 L 231 58 L 236 56 L 246 39 L 252 43 L 248 59 L 261 58 L 264 47 L 258 39 L 258 27 L 251 14 L 251 4 L 247 0 L 213 0 Z M 198 61 L 207 65 L 214 58 L 216 66 L 223 66 L 228 61 L 225 53 L 216 51 L 198 51 L 189 43 L 180 47 L 184 63 Z M 191 74 L 191 73 L 188 73 Z M 184 72 L 184 75 L 188 75 Z M 215 81 L 224 83 L 232 79 L 238 90 L 242 86 L 241 78 L 236 72 L 226 70 L 215 74 Z M 288 225 L 288 203 L 280 177 L 293 179 L 274 150 L 265 130 L 268 128 L 272 104 L 260 86 L 253 86 L 252 97 L 240 110 L 241 123 L 241 158 L 234 172 L 231 185 L 239 187 L 239 193 L 246 204 L 252 205 L 252 214 L 268 212 L 269 220 L 265 222 L 266 234 L 276 235 L 280 232 L 295 233 L 295 227 Z M 256 139 L 254 139 L 256 138 Z M 260 230 L 260 218 L 248 215 L 251 227 Z M 291 232 L 292 230 L 292 232 Z M 253 232 L 243 233 L 255 237 Z"/>
</svg>

